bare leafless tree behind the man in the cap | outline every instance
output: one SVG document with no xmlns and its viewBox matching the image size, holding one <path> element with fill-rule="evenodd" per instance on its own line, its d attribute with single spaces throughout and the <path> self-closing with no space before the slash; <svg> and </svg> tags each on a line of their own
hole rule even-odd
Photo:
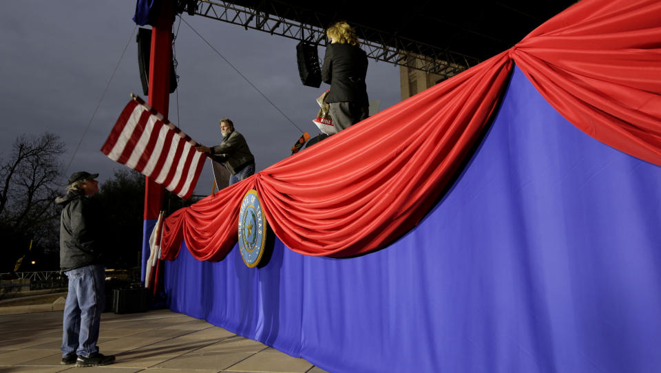
<svg viewBox="0 0 661 373">
<path fill-rule="evenodd" d="M 19 136 L 8 159 L 0 158 L 0 233 L 21 253 L 30 239 L 52 241 L 59 214 L 53 208 L 65 152 L 60 137 L 48 132 Z M 27 240 L 28 244 L 24 241 Z M 5 241 L 7 243 L 7 241 Z M 17 253 L 17 254 L 19 254 Z"/>
</svg>

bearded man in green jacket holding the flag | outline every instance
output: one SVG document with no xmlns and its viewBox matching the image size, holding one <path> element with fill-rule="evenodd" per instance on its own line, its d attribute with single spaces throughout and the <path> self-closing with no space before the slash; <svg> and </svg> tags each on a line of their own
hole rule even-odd
<svg viewBox="0 0 661 373">
<path fill-rule="evenodd" d="M 248 143 L 242 134 L 234 130 L 234 123 L 229 118 L 220 120 L 222 142 L 215 147 L 200 145 L 196 149 L 210 154 L 213 160 L 223 163 L 232 174 L 229 185 L 240 182 L 255 173 L 255 157 L 248 148 Z"/>
</svg>

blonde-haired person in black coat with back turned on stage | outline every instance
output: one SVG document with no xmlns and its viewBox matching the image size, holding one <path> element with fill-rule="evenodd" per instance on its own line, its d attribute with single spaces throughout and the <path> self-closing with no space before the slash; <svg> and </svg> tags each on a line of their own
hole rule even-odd
<svg viewBox="0 0 661 373">
<path fill-rule="evenodd" d="M 322 80 L 330 84 L 326 103 L 337 131 L 368 117 L 367 54 L 361 50 L 355 30 L 346 22 L 337 22 L 326 30 L 330 43 L 322 67 Z"/>
</svg>

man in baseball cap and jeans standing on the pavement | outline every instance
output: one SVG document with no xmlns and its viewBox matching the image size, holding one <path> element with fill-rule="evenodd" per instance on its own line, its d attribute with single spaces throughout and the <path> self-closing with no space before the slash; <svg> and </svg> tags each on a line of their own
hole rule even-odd
<svg viewBox="0 0 661 373">
<path fill-rule="evenodd" d="M 115 356 L 98 352 L 98 327 L 105 307 L 105 268 L 101 262 L 101 224 L 90 197 L 98 192 L 98 173 L 78 171 L 67 195 L 56 198 L 60 219 L 60 268 L 69 277 L 64 306 L 62 365 L 107 365 Z"/>
</svg>

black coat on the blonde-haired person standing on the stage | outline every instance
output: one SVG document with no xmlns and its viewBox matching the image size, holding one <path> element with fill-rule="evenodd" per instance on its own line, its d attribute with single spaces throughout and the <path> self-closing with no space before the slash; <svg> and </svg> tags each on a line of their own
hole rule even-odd
<svg viewBox="0 0 661 373">
<path fill-rule="evenodd" d="M 330 43 L 322 67 L 322 80 L 330 84 L 326 103 L 350 101 L 369 106 L 367 97 L 367 54 L 357 45 Z"/>
</svg>

